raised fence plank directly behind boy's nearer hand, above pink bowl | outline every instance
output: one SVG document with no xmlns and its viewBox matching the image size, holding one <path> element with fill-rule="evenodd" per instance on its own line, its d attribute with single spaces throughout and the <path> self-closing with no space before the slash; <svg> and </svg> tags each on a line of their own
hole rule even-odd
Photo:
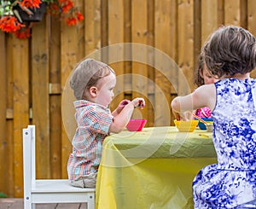
<svg viewBox="0 0 256 209">
<path fill-rule="evenodd" d="M 138 18 L 138 16 L 140 18 Z M 148 43 L 148 7 L 147 1 L 131 1 L 131 41 L 132 43 Z M 139 63 L 136 60 L 144 61 Z M 132 98 L 143 97 L 148 103 L 148 50 L 145 45 L 132 48 L 132 71 L 131 71 L 131 90 Z M 148 118 L 148 106 L 142 111 L 133 114 L 133 118 Z"/>
</svg>

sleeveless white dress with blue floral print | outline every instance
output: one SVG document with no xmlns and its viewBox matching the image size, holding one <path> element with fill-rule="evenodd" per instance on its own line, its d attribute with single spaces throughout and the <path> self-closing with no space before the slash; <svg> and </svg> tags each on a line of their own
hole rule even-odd
<svg viewBox="0 0 256 209">
<path fill-rule="evenodd" d="M 195 208 L 236 208 L 256 199 L 256 79 L 215 83 L 213 143 L 218 164 L 193 182 Z"/>
</svg>

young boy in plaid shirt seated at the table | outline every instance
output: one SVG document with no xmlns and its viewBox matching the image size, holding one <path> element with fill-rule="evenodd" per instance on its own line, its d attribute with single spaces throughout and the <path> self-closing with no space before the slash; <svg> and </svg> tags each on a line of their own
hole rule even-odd
<svg viewBox="0 0 256 209">
<path fill-rule="evenodd" d="M 144 107 L 143 98 L 122 101 L 113 113 L 108 106 L 113 100 L 116 76 L 101 61 L 86 59 L 73 72 L 70 86 L 77 101 L 75 119 L 78 128 L 73 136 L 67 172 L 70 183 L 81 188 L 95 188 L 102 158 L 102 143 L 110 132 L 118 133 L 131 119 L 135 107 Z"/>
</svg>

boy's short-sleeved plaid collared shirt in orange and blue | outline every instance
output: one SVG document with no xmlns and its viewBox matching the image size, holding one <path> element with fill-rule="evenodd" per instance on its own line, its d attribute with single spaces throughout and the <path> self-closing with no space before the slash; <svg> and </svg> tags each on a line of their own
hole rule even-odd
<svg viewBox="0 0 256 209">
<path fill-rule="evenodd" d="M 78 128 L 67 164 L 70 180 L 97 172 L 102 159 L 102 143 L 113 121 L 110 110 L 99 104 L 80 100 L 74 102 L 74 107 Z"/>
</svg>

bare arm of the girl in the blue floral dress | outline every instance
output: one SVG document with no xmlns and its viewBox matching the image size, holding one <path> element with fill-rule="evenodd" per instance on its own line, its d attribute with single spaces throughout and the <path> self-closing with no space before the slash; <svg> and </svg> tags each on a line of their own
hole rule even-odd
<svg viewBox="0 0 256 209">
<path fill-rule="evenodd" d="M 172 100 L 172 113 L 176 119 L 183 119 L 183 113 L 201 107 L 209 107 L 211 110 L 216 103 L 216 89 L 214 84 L 206 84 L 197 88 L 187 96 L 177 96 Z"/>
</svg>

